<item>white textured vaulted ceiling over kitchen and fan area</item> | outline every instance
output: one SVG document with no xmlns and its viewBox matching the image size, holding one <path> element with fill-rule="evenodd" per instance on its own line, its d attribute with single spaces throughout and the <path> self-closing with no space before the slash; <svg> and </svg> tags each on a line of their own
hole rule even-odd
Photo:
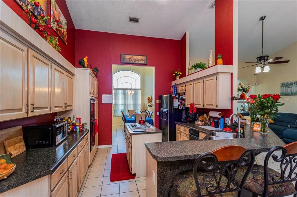
<svg viewBox="0 0 297 197">
<path fill-rule="evenodd" d="M 209 49 L 214 49 L 214 9 L 207 9 L 211 0 L 66 2 L 77 29 L 177 40 L 188 31 L 191 57 L 208 58 Z M 239 61 L 255 61 L 261 55 L 262 15 L 266 15 L 264 55 L 297 41 L 297 1 L 240 0 Z M 139 17 L 139 23 L 128 22 L 129 16 Z"/>
</svg>

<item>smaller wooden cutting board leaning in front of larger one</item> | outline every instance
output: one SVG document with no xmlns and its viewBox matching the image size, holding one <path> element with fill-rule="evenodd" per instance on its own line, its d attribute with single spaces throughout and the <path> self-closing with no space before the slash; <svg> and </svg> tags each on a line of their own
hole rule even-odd
<svg viewBox="0 0 297 197">
<path fill-rule="evenodd" d="M 11 157 L 26 151 L 23 135 L 4 141 L 3 143 L 6 153 L 10 154 Z"/>
</svg>

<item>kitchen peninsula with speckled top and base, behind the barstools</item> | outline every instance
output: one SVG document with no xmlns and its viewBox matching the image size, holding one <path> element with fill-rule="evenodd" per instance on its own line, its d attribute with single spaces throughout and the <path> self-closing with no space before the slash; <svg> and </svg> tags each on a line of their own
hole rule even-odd
<svg viewBox="0 0 297 197">
<path fill-rule="evenodd" d="M 244 138 L 209 140 L 213 131 L 194 123 L 176 124 L 207 135 L 203 140 L 146 143 L 146 196 L 166 196 L 173 177 L 179 172 L 193 169 L 195 159 L 204 152 L 211 152 L 222 146 L 238 145 L 259 154 L 274 146 L 285 145 L 271 130 L 268 134 L 260 134 L 250 131 L 250 125 L 245 126 Z"/>
</svg>

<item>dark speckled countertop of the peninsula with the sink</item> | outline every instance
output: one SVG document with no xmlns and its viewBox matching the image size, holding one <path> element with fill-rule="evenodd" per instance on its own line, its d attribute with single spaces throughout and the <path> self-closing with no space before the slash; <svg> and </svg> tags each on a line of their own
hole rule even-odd
<svg viewBox="0 0 297 197">
<path fill-rule="evenodd" d="M 189 127 L 204 133 L 212 131 L 200 128 L 194 123 L 176 122 L 176 124 Z M 189 141 L 170 141 L 145 143 L 151 156 L 161 162 L 178 161 L 185 159 L 196 159 L 204 152 L 211 152 L 217 148 L 228 145 L 239 145 L 244 148 L 252 149 L 255 153 L 269 151 L 274 146 L 284 146 L 285 143 L 277 137 L 270 129 L 268 134 L 250 131 L 250 125 L 245 126 L 245 138 L 224 139 L 224 140 L 189 140 Z M 209 135 L 210 135 L 209 134 Z M 207 139 L 205 137 L 205 139 Z"/>
</svg>

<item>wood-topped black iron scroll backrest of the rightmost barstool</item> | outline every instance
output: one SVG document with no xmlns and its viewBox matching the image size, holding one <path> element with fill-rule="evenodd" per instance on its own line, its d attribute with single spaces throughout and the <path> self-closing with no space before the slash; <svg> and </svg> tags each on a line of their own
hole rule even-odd
<svg viewBox="0 0 297 197">
<path fill-rule="evenodd" d="M 276 155 L 276 151 L 281 151 L 281 156 Z M 268 180 L 268 161 L 272 157 L 274 164 L 280 165 L 279 175 L 272 175 L 272 180 Z M 268 186 L 280 183 L 293 182 L 295 183 L 295 193 L 297 190 L 297 142 L 289 143 L 285 146 L 275 146 L 271 148 L 264 159 L 264 192 L 263 196 L 267 196 Z M 287 176 L 285 174 L 288 174 Z"/>
</svg>

